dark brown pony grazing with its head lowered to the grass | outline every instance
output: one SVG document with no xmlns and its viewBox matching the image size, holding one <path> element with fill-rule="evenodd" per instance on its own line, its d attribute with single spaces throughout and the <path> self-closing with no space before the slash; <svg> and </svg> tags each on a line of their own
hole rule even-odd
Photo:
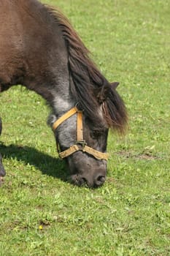
<svg viewBox="0 0 170 256">
<path fill-rule="evenodd" d="M 50 105 L 71 181 L 103 184 L 108 129 L 123 132 L 127 122 L 117 83 L 104 78 L 66 17 L 36 0 L 0 0 L 0 92 L 17 84 Z"/>
</svg>

